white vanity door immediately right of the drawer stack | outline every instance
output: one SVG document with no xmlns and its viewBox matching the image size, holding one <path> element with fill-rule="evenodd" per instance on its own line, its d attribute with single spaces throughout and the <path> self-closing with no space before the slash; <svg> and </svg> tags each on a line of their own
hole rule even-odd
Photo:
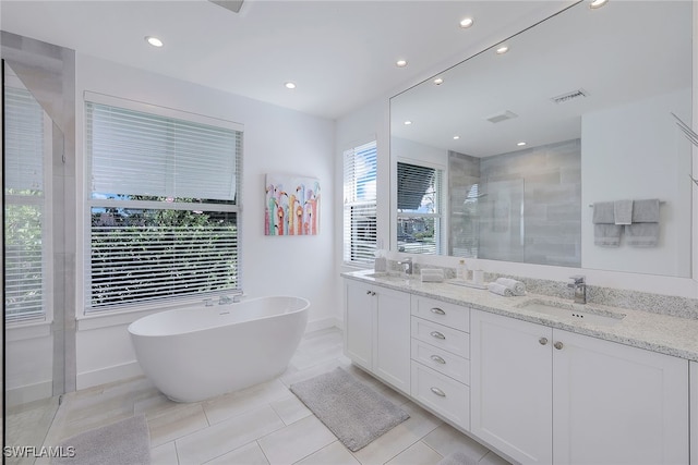
<svg viewBox="0 0 698 465">
<path fill-rule="evenodd" d="M 552 330 L 470 315 L 472 433 L 517 462 L 552 463 Z"/>
</svg>

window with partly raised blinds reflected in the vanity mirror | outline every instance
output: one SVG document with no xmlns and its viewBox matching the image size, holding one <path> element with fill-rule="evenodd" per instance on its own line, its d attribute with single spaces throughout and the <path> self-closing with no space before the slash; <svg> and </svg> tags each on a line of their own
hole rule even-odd
<svg viewBox="0 0 698 465">
<path fill-rule="evenodd" d="M 443 253 L 443 170 L 397 163 L 397 246 L 408 254 Z"/>
</svg>

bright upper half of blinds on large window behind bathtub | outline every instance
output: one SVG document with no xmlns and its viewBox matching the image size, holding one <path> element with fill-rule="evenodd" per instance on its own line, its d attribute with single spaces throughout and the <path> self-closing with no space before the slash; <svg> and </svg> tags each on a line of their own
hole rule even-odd
<svg viewBox="0 0 698 465">
<path fill-rule="evenodd" d="M 93 193 L 234 200 L 238 131 L 87 102 Z"/>
</svg>

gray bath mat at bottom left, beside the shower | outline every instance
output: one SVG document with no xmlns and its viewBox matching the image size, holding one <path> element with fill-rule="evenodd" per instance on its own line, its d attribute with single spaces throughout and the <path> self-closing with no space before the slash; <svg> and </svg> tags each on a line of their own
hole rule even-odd
<svg viewBox="0 0 698 465">
<path fill-rule="evenodd" d="M 151 435 L 143 415 L 91 429 L 60 444 L 51 465 L 148 465 Z"/>
</svg>

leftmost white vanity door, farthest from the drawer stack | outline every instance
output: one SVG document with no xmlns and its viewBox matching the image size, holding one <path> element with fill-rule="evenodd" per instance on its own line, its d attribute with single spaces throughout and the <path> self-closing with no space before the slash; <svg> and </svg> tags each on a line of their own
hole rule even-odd
<svg viewBox="0 0 698 465">
<path fill-rule="evenodd" d="M 373 354 L 373 308 L 375 291 L 365 284 L 345 281 L 345 354 L 371 369 Z"/>
</svg>

